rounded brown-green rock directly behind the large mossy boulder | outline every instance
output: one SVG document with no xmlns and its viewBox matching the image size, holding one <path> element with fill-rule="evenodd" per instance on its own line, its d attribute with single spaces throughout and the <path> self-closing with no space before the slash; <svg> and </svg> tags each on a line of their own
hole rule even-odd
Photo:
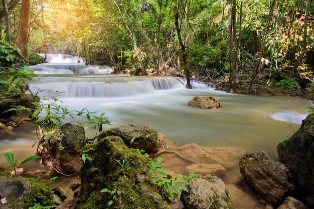
<svg viewBox="0 0 314 209">
<path fill-rule="evenodd" d="M 126 124 L 113 127 L 103 131 L 98 140 L 109 135 L 119 136 L 128 147 L 142 149 L 147 153 L 156 152 L 160 147 L 158 132 L 147 125 Z"/>
</svg>

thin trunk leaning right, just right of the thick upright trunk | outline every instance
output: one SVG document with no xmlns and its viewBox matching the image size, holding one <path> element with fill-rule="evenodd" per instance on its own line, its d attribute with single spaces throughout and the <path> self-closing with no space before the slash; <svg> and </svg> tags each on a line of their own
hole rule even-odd
<svg viewBox="0 0 314 209">
<path fill-rule="evenodd" d="M 261 59 L 262 59 L 262 57 L 264 56 L 264 47 L 265 47 L 266 34 L 267 34 L 267 32 L 268 32 L 269 23 L 270 23 L 270 20 L 271 20 L 272 15 L 273 15 L 273 9 L 274 9 L 275 2 L 276 2 L 276 0 L 272 0 L 271 3 L 270 3 L 269 13 L 268 13 L 268 16 L 267 16 L 266 25 L 265 25 L 265 29 L 264 29 L 264 33 L 263 33 L 261 45 L 260 45 L 260 55 L 259 55 L 259 59 L 258 59 L 256 65 L 255 65 L 254 72 L 253 72 L 252 78 L 251 78 L 251 80 L 250 80 L 250 85 L 249 85 L 249 87 L 247 88 L 246 93 L 250 93 L 250 91 L 251 91 L 251 89 L 252 89 L 252 86 L 253 86 L 253 82 L 254 82 L 254 80 L 255 80 L 255 77 L 256 77 L 256 75 L 258 74 L 259 69 L 260 69 Z"/>
</svg>

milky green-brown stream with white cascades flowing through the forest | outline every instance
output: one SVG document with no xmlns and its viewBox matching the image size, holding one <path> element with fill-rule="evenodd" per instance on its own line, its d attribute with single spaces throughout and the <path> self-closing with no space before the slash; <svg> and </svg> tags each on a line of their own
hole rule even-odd
<svg viewBox="0 0 314 209">
<path fill-rule="evenodd" d="M 104 125 L 103 130 L 121 124 L 144 124 L 179 146 L 195 142 L 204 147 L 240 148 L 244 152 L 264 150 L 275 161 L 277 144 L 299 128 L 307 115 L 306 106 L 311 105 L 299 97 L 238 95 L 195 81 L 193 89 L 187 89 L 184 80 L 178 78 L 113 75 L 109 74 L 110 67 L 103 66 L 46 63 L 32 68 L 42 76 L 30 83 L 32 91 L 64 91 L 63 105 L 70 109 L 87 108 L 98 111 L 98 115 L 105 112 L 112 125 Z M 222 107 L 208 110 L 188 106 L 188 101 L 197 95 L 216 96 Z M 69 121 L 75 119 L 78 118 Z M 95 136 L 91 127 L 86 126 L 85 130 L 87 137 Z M 12 151 L 21 162 L 36 152 L 36 146 L 32 148 L 37 139 L 35 125 L 14 131 L 21 135 L 0 133 L 0 151 Z M 1 166 L 9 166 L 4 156 L 0 157 Z M 30 161 L 24 167 L 36 170 L 41 166 L 38 161 Z M 228 176 L 240 175 L 238 164 L 227 173 L 227 182 Z"/>
</svg>

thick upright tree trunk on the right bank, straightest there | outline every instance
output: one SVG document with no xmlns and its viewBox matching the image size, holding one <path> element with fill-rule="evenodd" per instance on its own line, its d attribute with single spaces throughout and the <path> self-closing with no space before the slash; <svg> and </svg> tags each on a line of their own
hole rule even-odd
<svg viewBox="0 0 314 209">
<path fill-rule="evenodd" d="M 237 72 L 237 55 L 238 55 L 238 44 L 237 44 L 237 15 L 236 15 L 236 0 L 232 0 L 231 6 L 231 34 L 232 41 L 230 41 L 230 47 L 232 47 L 231 53 L 231 70 L 230 70 L 230 84 L 228 86 L 227 92 L 233 91 L 237 92 L 236 83 L 236 72 Z"/>
</svg>

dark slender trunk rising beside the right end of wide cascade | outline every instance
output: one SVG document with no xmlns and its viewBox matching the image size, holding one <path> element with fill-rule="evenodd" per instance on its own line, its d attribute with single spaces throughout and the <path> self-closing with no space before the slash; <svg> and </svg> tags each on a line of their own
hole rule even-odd
<svg viewBox="0 0 314 209">
<path fill-rule="evenodd" d="M 181 30 L 179 27 L 179 3 L 180 3 L 180 0 L 177 1 L 177 8 L 176 8 L 176 11 L 174 14 L 175 15 L 175 25 L 176 25 L 179 43 L 181 46 L 183 67 L 184 67 L 184 71 L 185 71 L 185 75 L 186 75 L 186 79 L 187 79 L 186 87 L 192 88 L 191 81 L 190 81 L 190 70 L 191 70 L 190 60 L 189 60 L 189 57 L 187 55 L 187 51 L 185 50 L 186 46 L 185 46 L 185 44 L 181 38 Z"/>
</svg>

